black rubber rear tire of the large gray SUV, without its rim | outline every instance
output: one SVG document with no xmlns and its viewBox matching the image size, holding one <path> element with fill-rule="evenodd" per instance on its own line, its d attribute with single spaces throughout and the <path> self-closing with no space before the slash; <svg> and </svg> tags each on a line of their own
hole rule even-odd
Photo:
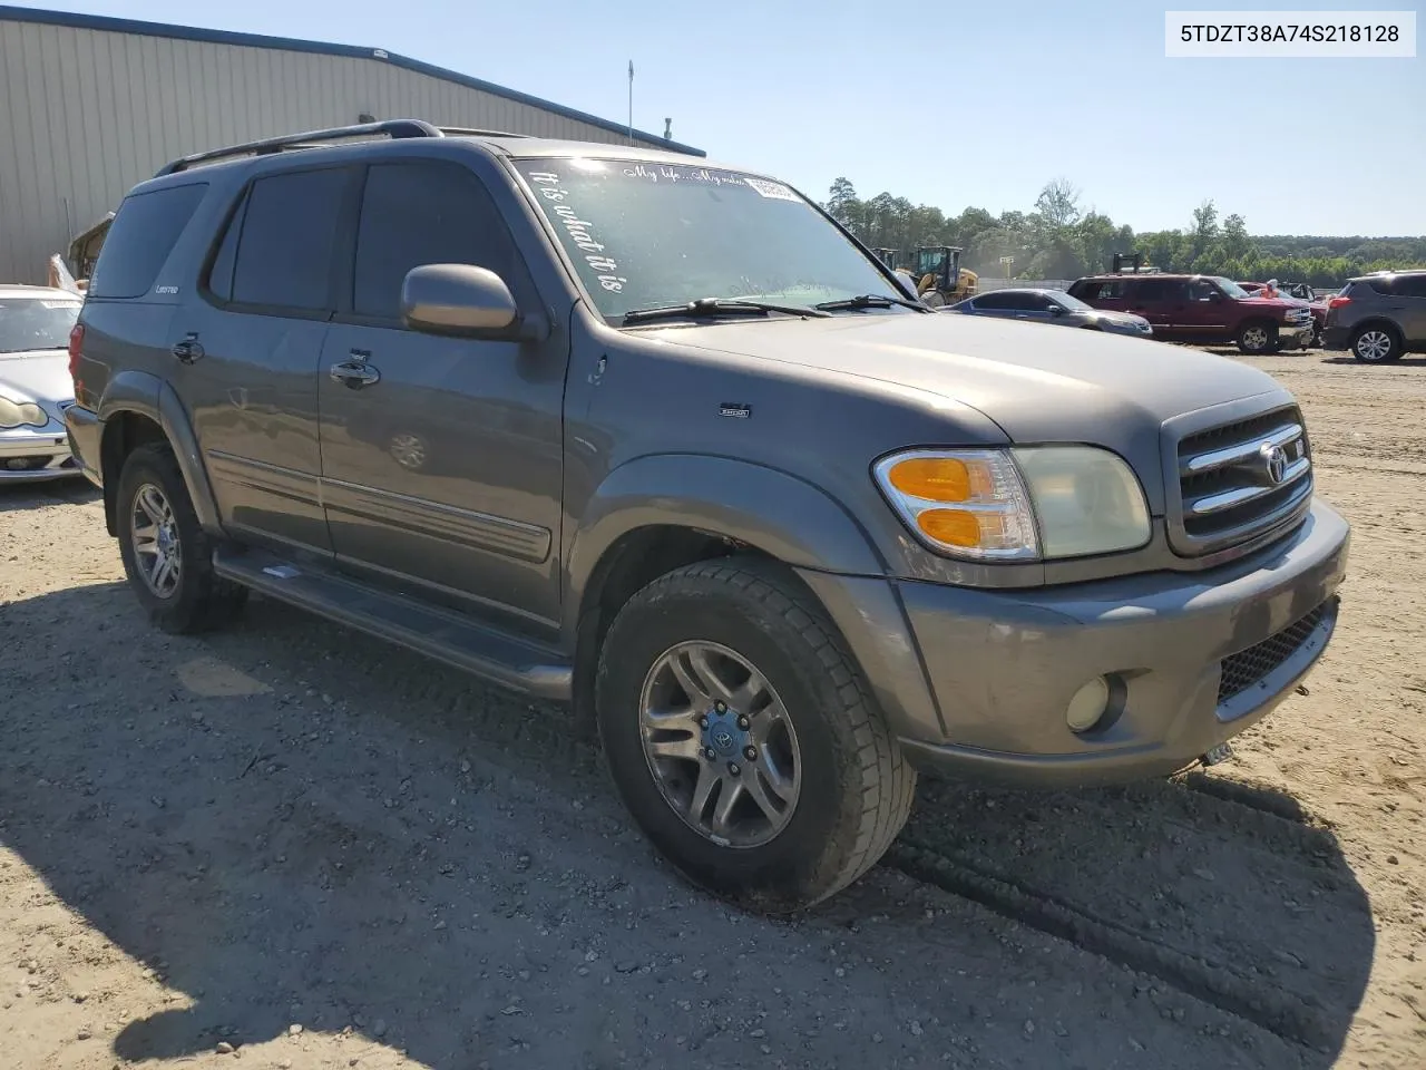
<svg viewBox="0 0 1426 1070">
<path fill-rule="evenodd" d="M 157 488 L 173 515 L 180 565 L 177 584 L 167 593 L 158 593 L 145 579 L 135 546 L 133 518 L 135 509 L 141 508 L 140 491 L 145 488 Z M 161 629 L 185 635 L 221 628 L 242 608 L 248 591 L 214 574 L 212 541 L 198 525 L 188 486 L 167 445 L 141 445 L 124 461 L 118 477 L 116 521 L 118 552 L 128 585 L 148 618 Z"/>
</svg>

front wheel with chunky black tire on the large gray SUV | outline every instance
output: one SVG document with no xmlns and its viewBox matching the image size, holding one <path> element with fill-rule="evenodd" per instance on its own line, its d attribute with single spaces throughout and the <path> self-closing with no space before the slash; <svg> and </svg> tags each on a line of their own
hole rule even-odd
<svg viewBox="0 0 1426 1070">
<path fill-rule="evenodd" d="M 669 668 L 672 658 L 700 653 L 702 673 L 696 662 L 683 669 L 706 696 L 729 699 L 726 710 L 696 700 L 696 689 L 684 691 Z M 767 685 L 763 698 L 744 706 L 756 688 L 704 686 L 709 666 L 732 685 L 740 668 L 754 668 Z M 672 728 L 647 730 L 646 698 L 657 709 L 692 708 L 713 720 L 700 726 L 679 712 L 666 718 Z M 727 719 L 734 713 L 750 719 L 734 725 Z M 791 913 L 840 892 L 881 857 L 911 809 L 915 772 L 834 626 L 763 561 L 689 565 L 629 599 L 600 651 L 596 718 L 610 776 L 645 835 L 690 882 L 752 910 Z M 791 730 L 779 740 L 787 723 Z M 729 736 L 747 732 L 729 745 L 722 728 Z M 655 735 L 682 753 L 647 755 Z M 704 748 L 714 743 L 716 760 L 707 760 Z M 757 746 L 742 750 L 749 743 Z M 780 779 L 764 775 L 770 770 Z M 694 817 L 703 776 L 717 783 Z M 724 792 L 736 800 L 733 820 L 714 832 Z M 757 798 L 780 803 L 789 795 L 776 817 Z"/>
</svg>

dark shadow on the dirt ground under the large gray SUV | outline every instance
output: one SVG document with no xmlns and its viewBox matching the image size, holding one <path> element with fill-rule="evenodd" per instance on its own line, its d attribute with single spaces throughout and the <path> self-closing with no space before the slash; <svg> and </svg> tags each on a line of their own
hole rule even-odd
<svg viewBox="0 0 1426 1070">
<path fill-rule="evenodd" d="M 1328 1067 L 1373 956 L 1330 833 L 1216 776 L 927 779 L 770 922 L 676 880 L 560 713 L 285 606 L 178 639 L 97 584 L 0 608 L 0 843 L 190 1000 L 130 1061 L 301 1023 L 432 1067 Z"/>
</svg>

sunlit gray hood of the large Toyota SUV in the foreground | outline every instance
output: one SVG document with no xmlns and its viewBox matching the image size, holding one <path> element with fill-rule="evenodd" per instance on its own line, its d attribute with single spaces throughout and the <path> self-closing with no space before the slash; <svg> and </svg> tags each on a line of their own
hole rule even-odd
<svg viewBox="0 0 1426 1070">
<path fill-rule="evenodd" d="M 1282 391 L 1226 357 L 1148 338 L 975 315 L 853 314 L 655 332 L 673 345 L 894 384 L 970 405 L 1015 442 L 1155 442 L 1171 417 Z M 1131 442 L 1132 439 L 1132 442 Z"/>
</svg>

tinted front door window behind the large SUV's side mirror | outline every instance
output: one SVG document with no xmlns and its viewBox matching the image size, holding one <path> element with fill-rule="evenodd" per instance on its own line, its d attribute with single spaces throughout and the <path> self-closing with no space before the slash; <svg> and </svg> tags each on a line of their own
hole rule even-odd
<svg viewBox="0 0 1426 1070">
<path fill-rule="evenodd" d="M 489 268 L 520 297 L 523 267 L 485 185 L 459 164 L 374 164 L 366 173 L 352 310 L 401 317 L 401 282 L 422 264 Z"/>
</svg>

